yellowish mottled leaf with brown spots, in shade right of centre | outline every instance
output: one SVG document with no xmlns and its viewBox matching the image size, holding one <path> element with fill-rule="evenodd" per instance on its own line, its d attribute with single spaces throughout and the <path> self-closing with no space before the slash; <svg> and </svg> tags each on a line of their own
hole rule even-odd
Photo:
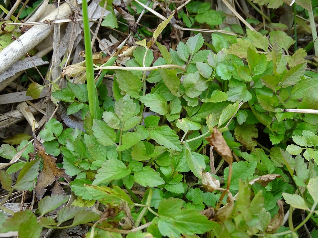
<svg viewBox="0 0 318 238">
<path fill-rule="evenodd" d="M 255 125 L 243 124 L 237 126 L 234 129 L 234 135 L 248 150 L 254 150 L 257 145 L 256 140 L 253 139 L 258 137 L 258 130 Z"/>
</svg>

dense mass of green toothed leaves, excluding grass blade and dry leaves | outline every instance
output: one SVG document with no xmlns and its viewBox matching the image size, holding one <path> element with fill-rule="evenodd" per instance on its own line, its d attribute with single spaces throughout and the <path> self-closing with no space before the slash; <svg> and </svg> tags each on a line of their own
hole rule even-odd
<svg viewBox="0 0 318 238">
<path fill-rule="evenodd" d="M 215 14 L 203 11 L 202 5 L 197 7 L 197 13 Z M 306 53 L 299 49 L 293 56 L 285 56 L 283 49 L 294 43 L 286 33 L 272 31 L 268 39 L 251 30 L 243 38 L 212 34 L 212 50 L 200 50 L 204 38 L 197 34 L 186 43 L 180 42 L 176 50 L 168 51 L 156 38 L 169 20 L 158 27 L 148 43 L 137 42 L 141 47 L 134 50 L 126 66 L 140 70 L 115 70 L 115 101 L 107 96 L 105 86 L 98 87 L 101 120 L 95 119 L 90 125 L 87 116 L 83 132 L 79 128 L 63 130 L 62 123 L 51 119 L 40 132 L 46 153 L 62 154 L 61 166 L 74 178 L 70 187 L 78 197 L 73 206 L 59 210 L 55 221 L 43 216 L 67 198 L 45 197 L 38 205 L 39 223 L 28 211 L 8 219 L 0 213 L 0 228 L 19 233 L 29 219 L 36 223 L 36 229 L 30 233 L 32 236 L 25 237 L 38 237 L 41 227 L 63 228 L 62 223 L 70 219 L 73 225 L 98 220 L 104 227 L 114 227 L 114 223 L 121 224 L 122 219 L 131 217 L 131 227 L 142 223 L 147 232 L 127 237 L 180 237 L 205 232 L 216 237 L 295 237 L 300 226 L 281 226 L 283 198 L 294 208 L 308 211 L 306 219 L 318 223 L 313 216 L 318 202 L 313 189 L 318 173 L 318 117 L 281 111 L 310 109 L 318 103 L 317 79 L 304 74 Z M 150 48 L 154 43 L 162 57 L 152 63 Z M 273 49 L 267 52 L 269 43 Z M 166 68 L 167 64 L 176 67 Z M 142 68 L 150 65 L 157 69 L 147 75 Z M 149 83 L 154 86 L 146 92 Z M 67 88 L 52 96 L 70 103 L 68 114 L 80 111 L 83 118 L 86 116 L 85 83 L 67 83 Z M 144 116 L 145 107 L 150 116 Z M 212 192 L 202 188 L 203 172 L 211 170 L 210 158 L 201 153 L 208 144 L 203 138 L 215 127 L 223 132 L 228 147 L 240 160 L 224 169 L 225 184 L 231 178 L 225 198 L 222 188 Z M 256 141 L 259 134 L 263 142 Z M 291 140 L 297 145 L 290 144 Z M 22 142 L 18 151 L 26 143 Z M 33 151 L 31 145 L 27 148 L 22 154 L 26 159 L 27 152 Z M 0 148 L 4 158 L 12 159 L 16 154 L 12 146 Z M 218 161 L 218 157 L 215 159 Z M 1 172 L 0 181 L 6 188 L 11 189 L 7 175 L 20 168 L 14 189 L 33 188 L 39 159 L 13 164 L 9 171 Z M 214 178 L 219 180 L 217 175 Z M 133 187 L 145 188 L 142 200 L 133 193 Z M 296 189 L 299 195 L 294 194 Z M 225 204 L 221 208 L 219 199 Z M 95 201 L 114 209 L 114 216 L 102 220 L 97 213 L 83 211 Z M 215 221 L 200 214 L 206 208 L 215 208 Z M 105 234 L 121 237 L 92 230 L 96 237 Z"/>
</svg>

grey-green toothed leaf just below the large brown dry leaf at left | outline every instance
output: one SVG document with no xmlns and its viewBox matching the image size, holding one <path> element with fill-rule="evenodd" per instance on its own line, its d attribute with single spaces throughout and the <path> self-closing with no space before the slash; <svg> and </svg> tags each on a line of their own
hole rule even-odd
<svg viewBox="0 0 318 238">
<path fill-rule="evenodd" d="M 52 195 L 41 198 L 38 202 L 40 215 L 43 216 L 46 213 L 53 211 L 55 208 L 58 208 L 63 203 L 67 202 L 68 198 L 69 196 L 66 195 Z"/>
</svg>

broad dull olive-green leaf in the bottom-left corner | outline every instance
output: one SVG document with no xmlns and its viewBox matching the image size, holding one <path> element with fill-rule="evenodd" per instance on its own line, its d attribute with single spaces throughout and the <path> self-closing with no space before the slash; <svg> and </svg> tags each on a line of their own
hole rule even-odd
<svg viewBox="0 0 318 238">
<path fill-rule="evenodd" d="M 17 231 L 21 238 L 39 238 L 42 231 L 36 216 L 28 209 L 14 213 L 2 225 L 2 233 Z"/>
</svg>

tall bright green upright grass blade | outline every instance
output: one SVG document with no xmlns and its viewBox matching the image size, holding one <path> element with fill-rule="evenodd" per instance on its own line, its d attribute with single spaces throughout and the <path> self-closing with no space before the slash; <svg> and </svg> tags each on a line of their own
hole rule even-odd
<svg viewBox="0 0 318 238">
<path fill-rule="evenodd" d="M 87 0 L 83 0 L 83 24 L 84 24 L 84 41 L 85 41 L 85 61 L 86 61 L 86 82 L 88 92 L 89 110 L 91 113 L 91 125 L 94 119 L 100 119 L 100 108 L 97 97 L 97 90 L 94 81 L 93 56 L 91 47 L 91 33 L 89 30 Z"/>
</svg>

